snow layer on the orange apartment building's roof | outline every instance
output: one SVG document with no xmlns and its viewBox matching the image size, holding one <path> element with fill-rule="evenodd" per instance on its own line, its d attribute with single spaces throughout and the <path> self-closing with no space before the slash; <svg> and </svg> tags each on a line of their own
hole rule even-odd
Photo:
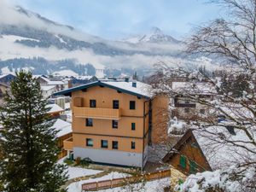
<svg viewBox="0 0 256 192">
<path fill-rule="evenodd" d="M 129 81 L 129 82 L 125 82 L 125 81 L 102 81 L 102 83 L 109 84 L 109 85 L 111 85 L 113 87 L 116 87 L 116 88 L 119 88 L 119 89 L 128 90 L 128 91 L 137 93 L 137 94 L 142 95 L 142 96 L 148 96 L 148 97 L 153 96 L 153 93 L 151 91 L 152 86 L 149 85 L 149 84 L 144 84 L 144 83 L 139 82 L 139 81 L 134 82 L 134 83 L 137 84 L 136 87 L 132 86 L 133 82 L 131 82 L 131 81 Z"/>
</svg>

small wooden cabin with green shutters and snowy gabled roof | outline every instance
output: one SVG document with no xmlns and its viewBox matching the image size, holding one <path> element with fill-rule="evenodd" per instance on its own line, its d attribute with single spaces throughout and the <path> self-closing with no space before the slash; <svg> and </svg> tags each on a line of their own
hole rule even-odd
<svg viewBox="0 0 256 192">
<path fill-rule="evenodd" d="M 225 143 L 221 136 L 235 143 L 238 142 L 241 148 L 232 143 Z M 207 131 L 189 129 L 166 154 L 163 162 L 186 175 L 215 171 L 241 161 L 246 163 L 247 157 L 252 158 L 252 155 L 255 155 L 242 147 L 243 145 L 247 145 L 247 148 L 252 147 L 248 146 L 246 138 L 244 132 L 231 130 L 230 127 L 212 126 L 207 128 Z"/>
</svg>

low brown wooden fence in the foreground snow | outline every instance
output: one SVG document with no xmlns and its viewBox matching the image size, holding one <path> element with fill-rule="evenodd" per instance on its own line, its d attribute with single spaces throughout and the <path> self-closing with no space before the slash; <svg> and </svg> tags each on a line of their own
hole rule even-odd
<svg viewBox="0 0 256 192">
<path fill-rule="evenodd" d="M 170 176 L 171 176 L 171 171 L 166 170 L 166 171 L 160 171 L 160 172 L 147 173 L 147 174 L 138 175 L 138 176 L 113 178 L 113 179 L 103 180 L 99 182 L 84 183 L 82 184 L 82 192 L 115 188 L 115 187 L 123 186 L 127 183 L 139 183 L 139 182 L 142 182 L 143 180 L 151 181 L 154 179 L 160 179 L 160 178 L 170 177 Z"/>
</svg>

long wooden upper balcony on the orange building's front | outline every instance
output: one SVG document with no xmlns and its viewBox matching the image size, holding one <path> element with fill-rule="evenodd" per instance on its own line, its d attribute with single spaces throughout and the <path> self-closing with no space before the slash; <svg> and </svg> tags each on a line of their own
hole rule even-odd
<svg viewBox="0 0 256 192">
<path fill-rule="evenodd" d="M 73 107 L 73 115 L 79 118 L 120 119 L 120 109 Z"/>
</svg>

